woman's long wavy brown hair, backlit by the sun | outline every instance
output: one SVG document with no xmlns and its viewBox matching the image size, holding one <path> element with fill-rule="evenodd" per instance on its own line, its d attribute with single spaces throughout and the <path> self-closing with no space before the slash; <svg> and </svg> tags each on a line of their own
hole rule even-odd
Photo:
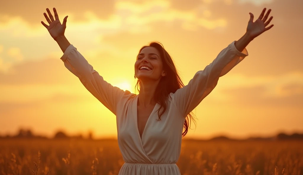
<svg viewBox="0 0 303 175">
<path fill-rule="evenodd" d="M 183 82 L 181 81 L 181 78 L 178 75 L 177 69 L 175 67 L 175 64 L 171 58 L 171 56 L 168 54 L 168 52 L 164 49 L 163 45 L 158 41 L 150 42 L 148 45 L 143 46 L 139 53 L 142 51 L 142 49 L 146 47 L 154 47 L 156 48 L 159 53 L 160 57 L 163 63 L 163 69 L 166 72 L 166 76 L 162 76 L 161 80 L 156 88 L 156 92 L 154 95 L 155 101 L 157 101 L 161 107 L 158 111 L 159 119 L 161 120 L 161 115 L 165 112 L 167 106 L 166 106 L 166 100 L 168 98 L 168 95 L 172 92 L 175 93 L 178 89 L 184 87 Z M 138 55 L 137 55 L 138 56 Z M 134 76 L 136 78 L 136 75 Z M 141 82 L 138 79 L 137 84 L 135 85 L 135 90 L 137 88 L 138 92 L 140 92 L 140 85 Z M 159 114 L 160 109 L 163 108 L 164 110 Z M 190 128 L 191 120 L 195 123 L 194 113 L 191 111 L 187 116 L 185 116 L 185 122 L 183 124 L 183 132 L 182 137 L 184 137 L 187 132 L 188 128 Z"/>
</svg>

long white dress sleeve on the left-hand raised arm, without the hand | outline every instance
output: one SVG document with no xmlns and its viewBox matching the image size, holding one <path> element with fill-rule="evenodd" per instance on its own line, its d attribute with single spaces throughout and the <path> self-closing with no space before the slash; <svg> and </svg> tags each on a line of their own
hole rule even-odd
<svg viewBox="0 0 303 175">
<path fill-rule="evenodd" d="M 85 88 L 116 115 L 118 101 L 125 91 L 103 80 L 103 77 L 73 45 L 68 46 L 60 59 L 65 67 L 79 78 Z"/>
</svg>

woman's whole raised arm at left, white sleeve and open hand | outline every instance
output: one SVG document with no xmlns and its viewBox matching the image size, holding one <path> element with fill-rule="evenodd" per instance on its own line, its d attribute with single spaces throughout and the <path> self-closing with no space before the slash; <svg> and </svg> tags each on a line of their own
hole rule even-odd
<svg viewBox="0 0 303 175">
<path fill-rule="evenodd" d="M 57 41 L 63 51 L 63 56 L 60 59 L 64 62 L 65 67 L 79 78 L 85 88 L 116 115 L 118 101 L 124 93 L 129 94 L 130 92 L 123 91 L 103 80 L 103 77 L 94 70 L 92 65 L 77 51 L 77 48 L 71 45 L 65 38 L 64 32 L 68 16 L 64 18 L 61 24 L 56 9 L 53 8 L 53 10 L 55 20 L 49 9 L 46 8 L 50 19 L 46 13 L 44 13 L 44 16 L 49 26 L 43 21 L 41 21 L 41 23 L 47 28 L 52 38 Z"/>
</svg>

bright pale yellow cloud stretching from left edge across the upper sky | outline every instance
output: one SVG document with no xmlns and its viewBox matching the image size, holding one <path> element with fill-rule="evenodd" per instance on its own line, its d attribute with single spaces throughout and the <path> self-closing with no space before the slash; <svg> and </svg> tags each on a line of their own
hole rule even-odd
<svg viewBox="0 0 303 175">
<path fill-rule="evenodd" d="M 66 29 L 67 38 L 73 38 L 73 43 L 80 43 L 80 45 L 84 45 L 82 47 L 84 50 L 89 49 L 90 51 L 110 48 L 111 46 L 106 44 L 102 45 L 102 40 L 105 36 L 122 32 L 136 35 L 150 33 L 155 24 L 160 24 L 160 22 L 165 22 L 166 25 L 170 26 L 180 23 L 179 26 L 191 31 L 198 30 L 201 26 L 211 29 L 226 25 L 226 22 L 222 19 L 210 21 L 206 18 L 198 17 L 195 12 L 179 11 L 171 8 L 171 2 L 164 0 L 146 1 L 143 3 L 117 1 L 113 4 L 113 8 L 115 12 L 107 15 L 107 18 L 103 18 L 102 15 L 92 10 L 94 8 L 82 13 L 60 12 L 60 8 L 56 9 L 61 20 L 64 16 L 69 16 Z M 31 12 L 35 13 L 36 11 Z M 52 51 L 52 49 L 57 49 L 55 46 L 41 47 L 42 45 L 47 45 L 46 41 L 51 41 L 48 31 L 40 23 L 41 20 L 29 21 L 29 19 L 25 18 L 26 15 L 22 16 L 18 15 L 18 13 L 11 14 L 5 13 L 5 11 L 0 13 L 0 38 L 6 43 L 6 47 L 11 47 L 7 53 L 8 56 L 14 58 L 10 59 L 7 56 L 0 55 L 2 58 L 0 70 L 4 72 L 7 72 L 13 64 L 17 64 L 22 59 L 32 59 L 33 53 L 37 57 L 43 57 L 47 52 L 51 53 L 50 56 L 58 54 L 58 52 Z M 81 18 L 78 18 L 79 14 L 81 14 Z M 209 16 L 210 12 L 206 11 L 205 14 L 205 16 Z M 43 19 L 44 16 L 42 15 L 41 17 L 42 21 L 47 24 L 45 19 Z M 31 45 L 26 48 L 24 43 L 29 42 Z M 92 43 L 92 45 L 96 46 L 92 49 L 91 46 L 83 43 Z M 115 49 L 112 50 L 113 54 L 117 52 Z"/>
</svg>

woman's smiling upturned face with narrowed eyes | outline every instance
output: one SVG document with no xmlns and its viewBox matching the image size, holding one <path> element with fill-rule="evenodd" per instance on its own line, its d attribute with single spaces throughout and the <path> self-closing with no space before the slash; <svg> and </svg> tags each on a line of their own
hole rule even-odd
<svg viewBox="0 0 303 175">
<path fill-rule="evenodd" d="M 145 68 L 142 69 L 142 66 Z M 139 80 L 158 80 L 165 76 L 162 59 L 156 48 L 148 46 L 138 54 L 135 62 L 135 75 Z"/>
</svg>

